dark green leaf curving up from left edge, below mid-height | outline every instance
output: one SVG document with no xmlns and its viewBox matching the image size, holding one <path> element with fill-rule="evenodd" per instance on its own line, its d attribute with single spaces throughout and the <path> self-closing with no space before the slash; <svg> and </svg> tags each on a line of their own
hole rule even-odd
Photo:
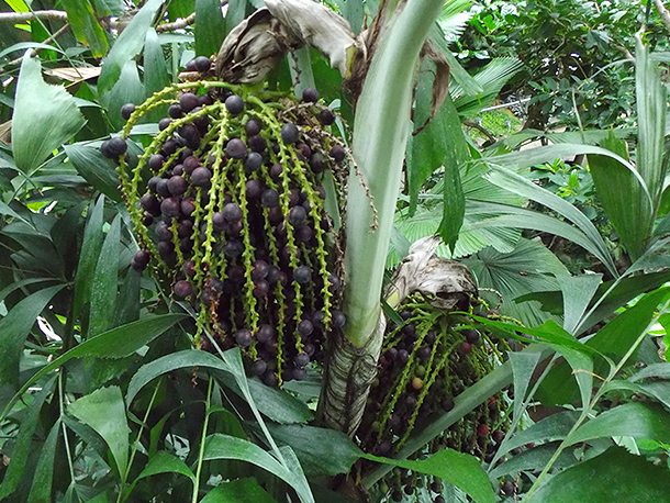
<svg viewBox="0 0 670 503">
<path fill-rule="evenodd" d="M 27 295 L 0 320 L 0 382 L 2 387 L 12 389 L 18 387 L 19 361 L 25 337 L 40 313 L 63 288 L 63 284 L 58 284 Z"/>
</svg>

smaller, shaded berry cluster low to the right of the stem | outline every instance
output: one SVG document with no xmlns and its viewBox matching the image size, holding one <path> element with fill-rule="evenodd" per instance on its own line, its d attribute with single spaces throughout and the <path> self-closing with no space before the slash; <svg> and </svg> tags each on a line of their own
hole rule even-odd
<svg viewBox="0 0 670 503">
<path fill-rule="evenodd" d="M 489 314 L 496 315 L 495 311 Z M 379 376 L 358 432 L 367 451 L 384 457 L 393 457 L 412 432 L 421 431 L 431 417 L 451 411 L 454 398 L 500 365 L 510 349 L 506 340 L 470 316 L 438 311 L 421 294 L 403 303 L 400 317 L 402 323 L 389 322 L 387 327 Z M 502 393 L 490 396 L 418 455 L 446 447 L 491 462 L 510 422 L 505 403 Z M 401 469 L 383 485 L 393 501 L 413 494 L 416 488 L 429 488 L 437 494 L 442 491 L 439 481 Z"/>
</svg>

